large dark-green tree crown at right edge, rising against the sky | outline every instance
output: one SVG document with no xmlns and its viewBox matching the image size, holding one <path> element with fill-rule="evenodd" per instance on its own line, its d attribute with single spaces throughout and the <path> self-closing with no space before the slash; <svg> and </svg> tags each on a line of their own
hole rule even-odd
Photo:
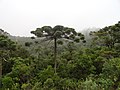
<svg viewBox="0 0 120 90">
<path fill-rule="evenodd" d="M 120 22 L 90 34 L 95 36 L 94 39 L 99 45 L 114 48 L 116 43 L 120 43 Z"/>
</svg>

